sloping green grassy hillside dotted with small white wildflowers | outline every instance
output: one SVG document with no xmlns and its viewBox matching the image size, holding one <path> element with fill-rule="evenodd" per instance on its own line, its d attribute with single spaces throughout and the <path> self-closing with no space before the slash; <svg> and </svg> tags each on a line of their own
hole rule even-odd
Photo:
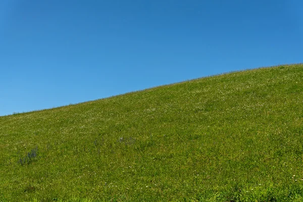
<svg viewBox="0 0 303 202">
<path fill-rule="evenodd" d="M 303 201 L 302 135 L 303 64 L 0 117 L 0 201 Z"/>
</svg>

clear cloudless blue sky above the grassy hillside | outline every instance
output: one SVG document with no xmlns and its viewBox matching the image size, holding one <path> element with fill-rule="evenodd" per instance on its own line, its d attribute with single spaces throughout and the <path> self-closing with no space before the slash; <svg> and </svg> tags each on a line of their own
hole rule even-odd
<svg viewBox="0 0 303 202">
<path fill-rule="evenodd" d="M 303 2 L 1 0 L 0 116 L 303 62 Z"/>
</svg>

